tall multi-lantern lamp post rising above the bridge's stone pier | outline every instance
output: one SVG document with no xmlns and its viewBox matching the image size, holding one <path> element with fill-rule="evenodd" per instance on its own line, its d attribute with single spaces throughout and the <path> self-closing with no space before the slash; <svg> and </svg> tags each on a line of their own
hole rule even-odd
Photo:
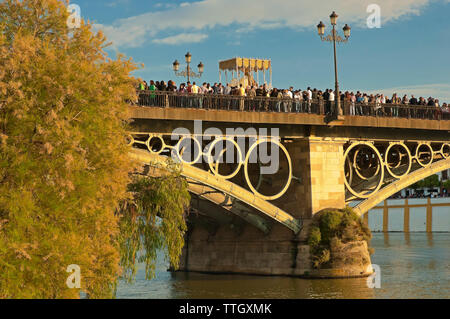
<svg viewBox="0 0 450 319">
<path fill-rule="evenodd" d="M 337 72 L 337 55 L 336 55 L 336 42 L 338 43 L 346 43 L 348 42 L 348 39 L 350 38 L 350 31 L 351 28 L 346 24 L 344 26 L 344 37 L 342 38 L 337 30 L 336 30 L 336 24 L 337 24 L 337 18 L 339 16 L 336 14 L 336 12 L 333 11 L 333 13 L 330 15 L 330 21 L 331 25 L 333 26 L 333 30 L 331 31 L 331 34 L 325 36 L 325 24 L 323 24 L 322 21 L 317 25 L 317 30 L 319 32 L 319 36 L 322 39 L 322 41 L 326 42 L 333 42 L 333 48 L 334 48 L 334 76 L 336 79 L 336 96 L 335 96 L 335 102 L 336 102 L 336 112 L 335 114 L 338 116 L 343 115 L 343 111 L 341 108 L 341 94 L 339 92 L 339 81 L 338 81 L 338 72 Z"/>
</svg>

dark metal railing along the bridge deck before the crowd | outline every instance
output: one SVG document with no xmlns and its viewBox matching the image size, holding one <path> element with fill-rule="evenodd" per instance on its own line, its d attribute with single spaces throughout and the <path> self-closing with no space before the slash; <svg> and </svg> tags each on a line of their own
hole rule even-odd
<svg viewBox="0 0 450 319">
<path fill-rule="evenodd" d="M 228 111 L 287 112 L 325 115 L 334 108 L 334 102 L 322 98 L 311 101 L 291 98 L 244 97 L 223 94 L 191 94 L 162 91 L 139 91 L 139 106 L 192 108 Z M 450 112 L 437 107 L 354 103 L 343 101 L 343 113 L 346 116 L 373 116 L 427 120 L 450 120 Z"/>
</svg>

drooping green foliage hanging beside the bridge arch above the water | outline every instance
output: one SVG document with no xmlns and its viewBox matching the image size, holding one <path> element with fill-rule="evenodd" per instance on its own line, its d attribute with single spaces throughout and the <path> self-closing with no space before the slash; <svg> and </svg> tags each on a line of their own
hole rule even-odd
<svg viewBox="0 0 450 319">
<path fill-rule="evenodd" d="M 153 277 L 158 250 L 165 251 L 173 269 L 179 266 L 190 195 L 177 165 L 169 162 L 163 172 L 160 177 L 135 176 L 129 185 L 133 201 L 126 203 L 120 222 L 121 265 L 129 282 L 136 274 L 136 262 L 145 264 L 147 279 Z"/>
</svg>

